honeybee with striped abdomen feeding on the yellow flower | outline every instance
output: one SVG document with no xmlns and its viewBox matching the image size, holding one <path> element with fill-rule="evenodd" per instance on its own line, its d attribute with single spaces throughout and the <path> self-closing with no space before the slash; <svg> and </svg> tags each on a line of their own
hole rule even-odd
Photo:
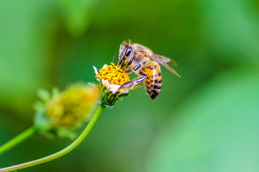
<svg viewBox="0 0 259 172">
<path fill-rule="evenodd" d="M 171 73 L 180 77 L 174 68 L 167 64 L 167 62 L 177 64 L 174 60 L 162 55 L 154 54 L 148 47 L 141 44 L 132 43 L 130 40 L 123 41 L 119 53 L 114 55 L 112 62 L 114 62 L 114 58 L 118 54 L 119 61 L 117 65 L 122 65 L 122 68 L 126 65 L 124 73 L 130 74 L 135 72 L 135 74 L 140 75 L 140 78 L 124 83 L 123 87 L 135 87 L 144 81 L 146 92 L 152 99 L 155 99 L 161 90 L 162 77 L 159 64 L 164 66 Z M 131 67 L 132 69 L 127 70 L 128 67 Z"/>
</svg>

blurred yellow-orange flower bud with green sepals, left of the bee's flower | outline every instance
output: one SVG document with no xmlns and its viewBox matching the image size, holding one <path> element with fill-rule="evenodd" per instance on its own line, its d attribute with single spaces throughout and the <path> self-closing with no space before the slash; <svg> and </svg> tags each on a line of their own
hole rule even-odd
<svg viewBox="0 0 259 172">
<path fill-rule="evenodd" d="M 40 90 L 38 95 L 42 101 L 35 106 L 35 126 L 45 135 L 73 139 L 74 130 L 92 118 L 99 93 L 94 87 L 77 83 L 62 92 L 53 89 L 51 96 L 46 90 Z"/>
</svg>

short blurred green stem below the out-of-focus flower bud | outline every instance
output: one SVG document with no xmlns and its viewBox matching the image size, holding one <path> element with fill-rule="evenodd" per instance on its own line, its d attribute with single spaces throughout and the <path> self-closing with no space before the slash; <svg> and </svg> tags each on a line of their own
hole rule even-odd
<svg viewBox="0 0 259 172">
<path fill-rule="evenodd" d="M 37 131 L 37 128 L 35 126 L 32 126 L 27 130 L 23 131 L 22 133 L 20 133 L 19 135 L 17 135 L 16 137 L 14 137 L 12 140 L 0 146 L 0 155 L 12 149 L 16 145 L 18 145 L 19 143 L 27 139 L 28 137 L 32 136 L 35 133 L 35 131 Z"/>
</svg>

